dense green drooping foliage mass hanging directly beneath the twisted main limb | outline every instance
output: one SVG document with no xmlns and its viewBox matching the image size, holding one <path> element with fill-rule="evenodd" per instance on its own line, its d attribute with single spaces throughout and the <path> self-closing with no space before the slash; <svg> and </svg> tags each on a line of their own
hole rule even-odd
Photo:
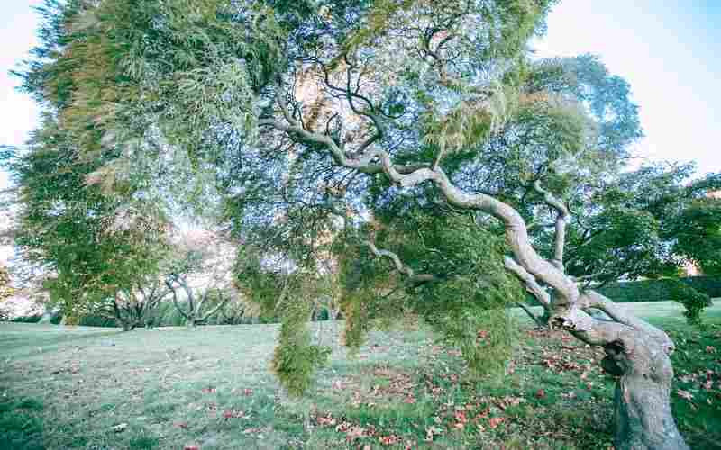
<svg viewBox="0 0 721 450">
<path fill-rule="evenodd" d="M 434 274 L 436 280 L 413 284 L 367 247 L 339 245 L 344 343 L 360 347 L 376 322 L 413 313 L 460 346 L 475 374 L 502 372 L 515 334 L 508 307 L 525 295 L 503 265 L 504 239 L 469 215 L 434 215 L 414 207 L 404 214 L 397 208 L 395 203 L 380 210 L 379 218 L 388 222 L 372 230 L 376 245 L 397 252 L 415 274 Z"/>
</svg>

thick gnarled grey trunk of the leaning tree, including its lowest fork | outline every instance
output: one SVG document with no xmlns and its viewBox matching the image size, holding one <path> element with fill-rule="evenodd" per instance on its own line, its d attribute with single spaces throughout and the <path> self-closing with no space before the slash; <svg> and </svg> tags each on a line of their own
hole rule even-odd
<svg viewBox="0 0 721 450">
<path fill-rule="evenodd" d="M 579 308 L 580 307 L 580 308 Z M 612 320 L 594 319 L 596 308 Z M 604 347 L 602 365 L 618 377 L 615 401 L 616 450 L 688 450 L 671 414 L 673 342 L 661 329 L 636 318 L 595 292 L 583 293 L 577 307 L 552 323 L 581 340 Z"/>
</svg>

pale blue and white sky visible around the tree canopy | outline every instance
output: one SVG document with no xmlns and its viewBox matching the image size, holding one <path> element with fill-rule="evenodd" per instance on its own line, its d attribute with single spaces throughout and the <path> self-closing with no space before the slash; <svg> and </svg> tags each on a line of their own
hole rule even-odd
<svg viewBox="0 0 721 450">
<path fill-rule="evenodd" d="M 7 75 L 35 41 L 40 0 L 3 2 L 0 19 L 0 144 L 21 145 L 37 108 L 14 92 Z M 543 56 L 590 52 L 631 83 L 646 138 L 636 150 L 651 159 L 696 161 L 721 172 L 721 1 L 565 0 L 534 44 Z M 0 186 L 6 183 L 0 174 Z"/>
</svg>

